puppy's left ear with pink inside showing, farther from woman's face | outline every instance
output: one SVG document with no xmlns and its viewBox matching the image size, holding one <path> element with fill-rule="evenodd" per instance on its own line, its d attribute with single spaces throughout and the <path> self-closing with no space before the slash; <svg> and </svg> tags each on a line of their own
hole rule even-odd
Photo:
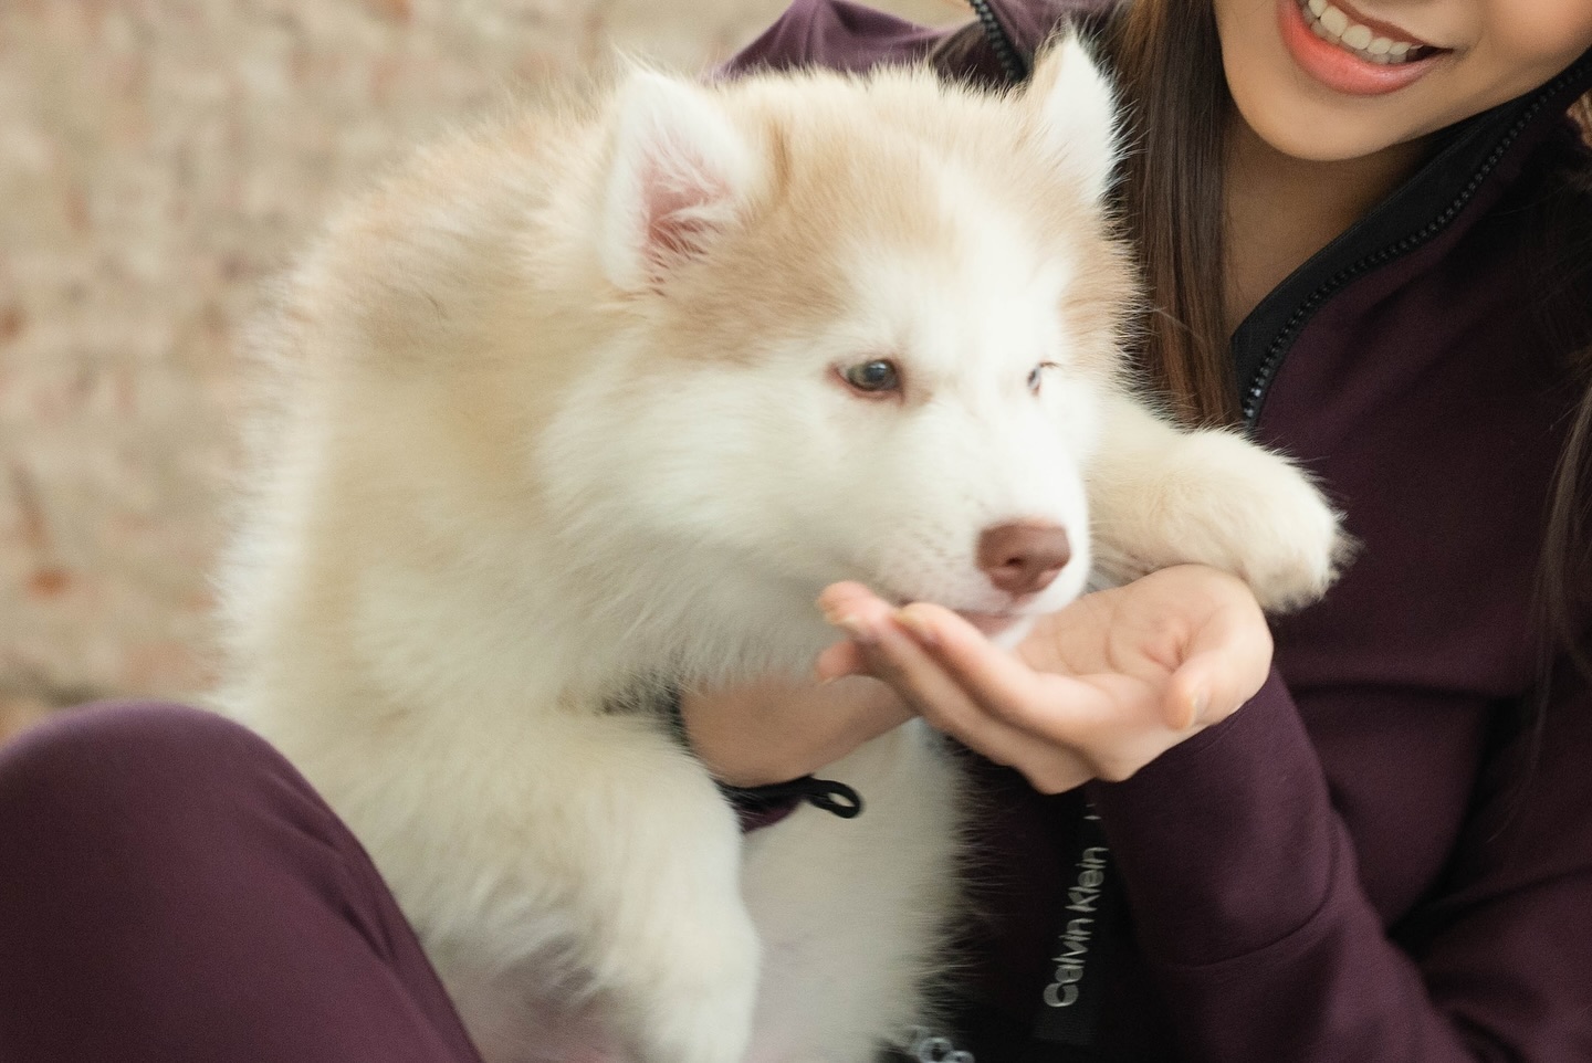
<svg viewBox="0 0 1592 1063">
<path fill-rule="evenodd" d="M 632 72 L 616 116 L 600 255 L 608 278 L 638 293 L 737 224 L 759 167 L 712 95 L 675 78 Z"/>
</svg>

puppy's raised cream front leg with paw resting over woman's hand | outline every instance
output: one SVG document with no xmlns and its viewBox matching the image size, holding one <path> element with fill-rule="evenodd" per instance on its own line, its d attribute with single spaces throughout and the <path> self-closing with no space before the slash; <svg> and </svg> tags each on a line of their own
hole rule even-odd
<svg viewBox="0 0 1592 1063">
<path fill-rule="evenodd" d="M 1124 395 L 1106 403 L 1087 482 L 1110 582 L 1192 562 L 1282 611 L 1321 597 L 1345 554 L 1337 514 L 1288 458 L 1231 430 L 1178 430 Z"/>
</svg>

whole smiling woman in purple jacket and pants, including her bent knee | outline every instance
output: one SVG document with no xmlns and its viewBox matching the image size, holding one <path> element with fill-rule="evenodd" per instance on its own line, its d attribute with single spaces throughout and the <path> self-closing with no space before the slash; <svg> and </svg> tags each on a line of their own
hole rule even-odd
<svg viewBox="0 0 1592 1063">
<path fill-rule="evenodd" d="M 1146 369 L 1307 461 L 1363 543 L 1277 627 L 1275 668 L 1243 589 L 1199 568 L 1086 598 L 1020 664 L 933 608 L 826 595 L 853 635 L 826 675 L 884 676 L 1017 769 L 981 769 L 992 918 L 947 1031 L 985 1060 L 1592 1057 L 1592 695 L 1565 649 L 1587 614 L 1567 581 L 1551 630 L 1533 609 L 1567 360 L 1592 339 L 1586 277 L 1533 267 L 1592 216 L 1563 191 L 1592 3 L 1331 10 L 981 3 L 941 35 L 809 0 L 740 60 L 933 56 L 998 84 L 1083 14 L 1138 123 Z M 1313 22 L 1407 45 L 1406 68 Z M 747 732 L 743 691 L 685 716 L 726 781 L 767 783 L 899 722 L 884 691 L 759 691 L 774 734 Z M 476 1058 L 357 843 L 223 721 L 35 730 L 0 757 L 0 1058 Z"/>
</svg>

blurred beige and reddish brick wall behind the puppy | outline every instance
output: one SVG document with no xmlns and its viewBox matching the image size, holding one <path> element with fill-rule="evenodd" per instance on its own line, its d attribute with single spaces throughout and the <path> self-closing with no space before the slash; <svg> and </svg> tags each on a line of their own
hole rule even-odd
<svg viewBox="0 0 1592 1063">
<path fill-rule="evenodd" d="M 783 6 L 0 0 L 0 740 L 205 686 L 234 342 L 330 204 L 514 86 L 699 68 Z"/>
</svg>

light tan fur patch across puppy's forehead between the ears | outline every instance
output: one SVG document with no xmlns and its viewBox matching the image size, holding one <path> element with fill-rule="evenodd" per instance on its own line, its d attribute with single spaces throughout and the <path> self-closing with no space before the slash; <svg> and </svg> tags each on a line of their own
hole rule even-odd
<svg viewBox="0 0 1592 1063">
<path fill-rule="evenodd" d="M 740 361 L 753 344 L 814 334 L 852 307 L 856 261 L 942 263 L 950 277 L 965 266 L 968 226 L 995 208 L 1033 240 L 1014 253 L 1043 259 L 1054 248 L 1073 266 L 1059 312 L 1081 368 L 1116 372 L 1135 299 L 1130 259 L 1100 207 L 1041 150 L 1020 95 L 914 72 L 750 80 L 720 92 L 771 178 L 747 228 L 669 286 L 659 326 L 680 356 Z M 957 210 L 947 188 L 958 186 L 981 201 Z"/>
</svg>

